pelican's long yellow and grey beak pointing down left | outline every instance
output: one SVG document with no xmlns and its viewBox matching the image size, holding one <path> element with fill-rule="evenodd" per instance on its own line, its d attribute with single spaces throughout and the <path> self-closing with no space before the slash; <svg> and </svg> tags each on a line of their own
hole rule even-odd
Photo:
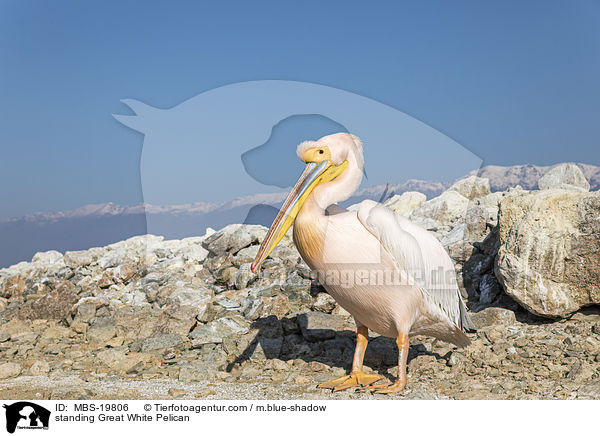
<svg viewBox="0 0 600 436">
<path fill-rule="evenodd" d="M 304 172 L 283 202 L 283 206 L 281 206 L 279 213 L 273 220 L 267 236 L 265 236 L 262 244 L 260 244 L 258 254 L 250 266 L 250 270 L 253 273 L 258 270 L 260 264 L 271 254 L 275 247 L 277 247 L 277 244 L 279 244 L 279 241 L 285 236 L 315 186 L 333 180 L 347 166 L 348 161 L 344 161 L 341 165 L 334 165 L 329 160 L 306 164 Z"/>
</svg>

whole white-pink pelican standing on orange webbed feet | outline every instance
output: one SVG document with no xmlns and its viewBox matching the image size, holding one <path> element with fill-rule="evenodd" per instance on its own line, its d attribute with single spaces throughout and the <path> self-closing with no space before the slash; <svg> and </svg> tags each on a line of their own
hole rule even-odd
<svg viewBox="0 0 600 436">
<path fill-rule="evenodd" d="M 349 133 L 305 141 L 297 148 L 306 168 L 275 217 L 254 259 L 256 272 L 292 224 L 293 240 L 327 292 L 356 322 L 350 374 L 319 384 L 338 391 L 360 388 L 395 393 L 407 382 L 409 337 L 428 335 L 464 347 L 472 328 L 454 265 L 438 240 L 380 203 L 357 210 L 336 203 L 358 188 L 363 175 L 361 140 Z M 369 330 L 395 338 L 398 377 L 373 384 L 363 372 Z"/>
</svg>

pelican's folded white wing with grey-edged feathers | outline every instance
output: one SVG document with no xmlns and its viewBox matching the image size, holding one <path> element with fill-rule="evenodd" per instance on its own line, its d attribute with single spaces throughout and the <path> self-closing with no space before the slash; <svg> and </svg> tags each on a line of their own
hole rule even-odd
<svg viewBox="0 0 600 436">
<path fill-rule="evenodd" d="M 396 261 L 399 269 L 421 287 L 433 307 L 460 330 L 472 329 L 462 301 L 454 264 L 427 230 L 372 200 L 360 204 L 358 219 Z"/>
</svg>

